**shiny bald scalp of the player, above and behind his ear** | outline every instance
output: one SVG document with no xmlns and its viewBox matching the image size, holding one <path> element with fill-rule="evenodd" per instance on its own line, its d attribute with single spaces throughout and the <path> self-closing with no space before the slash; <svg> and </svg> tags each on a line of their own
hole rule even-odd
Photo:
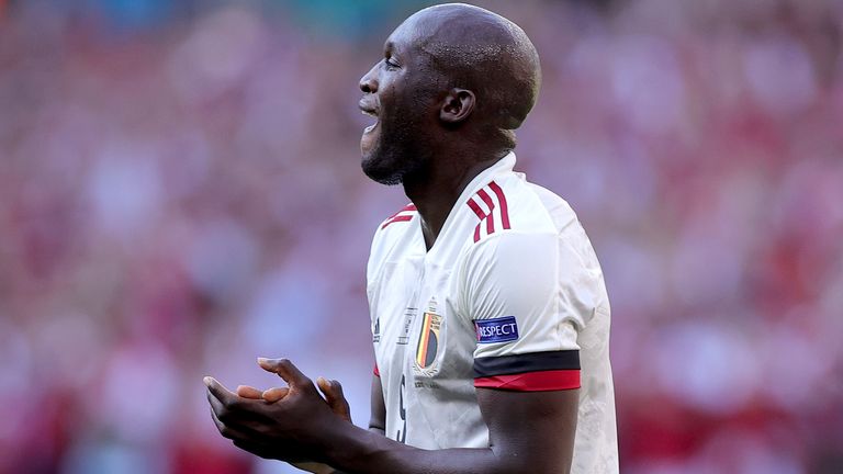
<svg viewBox="0 0 843 474">
<path fill-rule="evenodd" d="M 512 21 L 464 3 L 424 9 L 400 29 L 413 31 L 414 43 L 439 76 L 439 86 L 476 95 L 473 120 L 515 145 L 518 128 L 536 103 L 541 68 L 536 47 Z"/>
</svg>

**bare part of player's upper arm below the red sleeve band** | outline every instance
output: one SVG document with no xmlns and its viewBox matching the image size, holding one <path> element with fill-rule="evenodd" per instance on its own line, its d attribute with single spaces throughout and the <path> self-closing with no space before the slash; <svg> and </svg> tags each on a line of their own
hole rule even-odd
<svg viewBox="0 0 843 474">
<path fill-rule="evenodd" d="M 571 470 L 580 391 L 477 388 L 490 448 L 507 473 Z"/>
</svg>

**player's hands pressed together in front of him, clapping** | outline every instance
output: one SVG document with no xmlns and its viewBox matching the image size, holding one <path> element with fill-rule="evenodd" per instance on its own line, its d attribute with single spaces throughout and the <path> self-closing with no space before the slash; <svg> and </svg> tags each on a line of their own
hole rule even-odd
<svg viewBox="0 0 843 474">
<path fill-rule="evenodd" d="M 235 393 L 214 377 L 204 379 L 211 416 L 220 433 L 237 448 L 265 459 L 323 461 L 319 433 L 331 424 L 351 421 L 342 386 L 319 377 L 317 391 L 286 359 L 261 358 L 258 365 L 281 376 L 288 386 L 260 391 L 240 385 Z"/>
</svg>

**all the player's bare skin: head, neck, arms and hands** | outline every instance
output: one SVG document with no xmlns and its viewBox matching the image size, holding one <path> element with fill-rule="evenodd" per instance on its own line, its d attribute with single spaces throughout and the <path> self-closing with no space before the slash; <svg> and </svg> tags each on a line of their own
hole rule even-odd
<svg viewBox="0 0 843 474">
<path fill-rule="evenodd" d="M 422 216 L 428 249 L 465 185 L 515 147 L 513 131 L 535 104 L 540 77 L 538 55 L 520 27 L 476 7 L 422 10 L 387 38 L 383 58 L 360 81 L 360 109 L 376 117 L 361 138 L 361 165 L 375 181 L 403 184 Z M 267 396 L 239 387 L 238 395 L 212 377 L 205 384 L 220 432 L 262 458 L 323 463 L 313 472 L 571 469 L 578 390 L 476 388 L 491 445 L 431 451 L 383 436 L 385 408 L 376 376 L 370 429 L 364 430 L 338 416 L 341 392 L 321 387 L 326 403 L 292 362 L 265 360 L 261 366 L 281 376 L 289 391 L 274 388 Z"/>
</svg>

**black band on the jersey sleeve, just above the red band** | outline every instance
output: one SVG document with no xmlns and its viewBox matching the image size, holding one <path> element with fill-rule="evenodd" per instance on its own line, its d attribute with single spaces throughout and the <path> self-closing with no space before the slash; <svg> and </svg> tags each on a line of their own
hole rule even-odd
<svg viewBox="0 0 843 474">
<path fill-rule="evenodd" d="M 576 349 L 474 359 L 474 377 L 578 369 L 580 351 Z"/>
</svg>

